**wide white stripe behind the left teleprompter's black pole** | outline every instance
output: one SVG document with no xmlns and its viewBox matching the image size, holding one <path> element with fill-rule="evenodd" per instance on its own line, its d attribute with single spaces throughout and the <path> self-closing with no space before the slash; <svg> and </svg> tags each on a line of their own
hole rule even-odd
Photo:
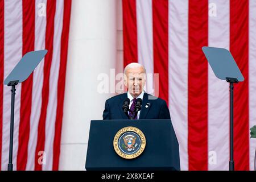
<svg viewBox="0 0 256 182">
<path fill-rule="evenodd" d="M 22 1 L 5 1 L 5 51 L 4 78 L 22 58 Z M 2 131 L 2 170 L 7 169 L 9 162 L 11 92 L 9 86 L 3 87 L 3 131 Z M 16 159 L 19 142 L 19 112 L 21 84 L 16 86 L 14 110 L 14 144 L 13 169 L 16 170 Z"/>
</svg>

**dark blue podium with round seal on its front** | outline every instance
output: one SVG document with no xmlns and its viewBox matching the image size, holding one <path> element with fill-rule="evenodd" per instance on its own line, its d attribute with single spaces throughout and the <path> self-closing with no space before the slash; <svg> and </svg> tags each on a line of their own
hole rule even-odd
<svg viewBox="0 0 256 182">
<path fill-rule="evenodd" d="M 124 158 L 123 153 L 129 148 L 127 142 L 122 143 L 130 134 L 127 130 L 139 130 L 134 144 L 130 144 L 133 152 L 140 146 L 143 151 L 133 154 L 135 158 Z M 143 133 L 143 137 L 141 135 Z M 128 136 L 128 137 L 125 137 Z M 134 134 L 136 135 L 136 134 Z M 119 136 L 119 140 L 118 140 Z M 118 141 L 117 141 L 118 140 Z M 122 144 L 120 144 L 120 142 Z M 136 144 L 135 144 L 136 143 Z M 117 145 L 121 146 L 118 150 Z M 127 146 L 126 146 L 127 144 Z M 137 144 L 139 144 L 137 146 Z M 128 149 L 127 149 L 128 150 Z M 117 152 L 119 151 L 119 152 Z M 118 153 L 122 154 L 118 155 Z M 129 153 L 131 154 L 131 153 Z M 139 154 L 139 156 L 137 156 Z M 129 155 L 132 157 L 132 155 Z M 91 121 L 89 142 L 85 168 L 88 171 L 113 170 L 180 170 L 179 143 L 170 119 L 139 119 L 139 120 L 104 120 Z"/>
</svg>

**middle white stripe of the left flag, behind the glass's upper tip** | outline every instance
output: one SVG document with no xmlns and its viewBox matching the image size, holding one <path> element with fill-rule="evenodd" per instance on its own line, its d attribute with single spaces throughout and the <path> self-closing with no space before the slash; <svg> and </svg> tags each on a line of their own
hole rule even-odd
<svg viewBox="0 0 256 182">
<path fill-rule="evenodd" d="M 42 16 L 42 12 L 46 11 L 46 3 L 46 0 L 35 1 L 35 51 L 45 48 L 46 16 Z M 28 140 L 28 158 L 26 170 L 34 170 L 35 168 L 35 150 L 36 142 L 38 140 L 38 123 L 42 107 L 42 88 L 44 78 L 43 69 L 44 59 L 41 61 L 38 67 L 36 67 L 33 74 L 30 138 Z"/>
</svg>

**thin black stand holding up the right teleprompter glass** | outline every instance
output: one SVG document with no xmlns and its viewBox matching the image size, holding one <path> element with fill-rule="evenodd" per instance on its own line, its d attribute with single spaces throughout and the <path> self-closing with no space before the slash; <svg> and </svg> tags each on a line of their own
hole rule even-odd
<svg viewBox="0 0 256 182">
<path fill-rule="evenodd" d="M 230 83 L 230 123 L 229 123 L 229 144 L 230 144 L 230 154 L 229 154 L 229 171 L 234 171 L 234 83 L 238 83 L 237 78 L 226 78 L 226 81 Z"/>
</svg>

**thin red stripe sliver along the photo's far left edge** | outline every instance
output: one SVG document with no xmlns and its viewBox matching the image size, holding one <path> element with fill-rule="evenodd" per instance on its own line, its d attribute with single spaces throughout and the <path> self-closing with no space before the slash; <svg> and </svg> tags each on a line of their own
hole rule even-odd
<svg viewBox="0 0 256 182">
<path fill-rule="evenodd" d="M 4 0 L 0 0 L 0 170 L 2 161 L 2 129 L 3 129 L 3 67 L 4 67 Z"/>
</svg>

